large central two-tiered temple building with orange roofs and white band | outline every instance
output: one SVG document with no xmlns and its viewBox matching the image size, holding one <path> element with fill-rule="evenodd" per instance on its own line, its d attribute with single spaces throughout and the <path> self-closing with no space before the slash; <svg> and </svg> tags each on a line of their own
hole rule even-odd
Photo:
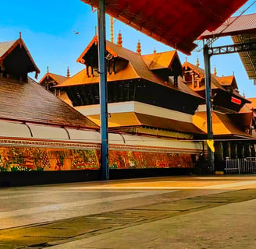
<svg viewBox="0 0 256 249">
<path fill-rule="evenodd" d="M 141 55 L 107 41 L 108 128 L 132 134 L 194 139 L 193 115 L 203 97 L 187 86 L 176 51 Z M 73 107 L 100 125 L 98 37 L 77 59 L 85 69 L 55 86 Z"/>
</svg>

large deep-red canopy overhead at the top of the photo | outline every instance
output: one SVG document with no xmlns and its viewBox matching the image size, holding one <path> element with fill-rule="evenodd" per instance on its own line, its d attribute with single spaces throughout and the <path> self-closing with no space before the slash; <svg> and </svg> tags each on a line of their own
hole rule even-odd
<svg viewBox="0 0 256 249">
<path fill-rule="evenodd" d="M 81 0 L 98 7 L 98 0 Z M 105 0 L 106 12 L 190 54 L 204 30 L 215 30 L 247 0 Z"/>
</svg>

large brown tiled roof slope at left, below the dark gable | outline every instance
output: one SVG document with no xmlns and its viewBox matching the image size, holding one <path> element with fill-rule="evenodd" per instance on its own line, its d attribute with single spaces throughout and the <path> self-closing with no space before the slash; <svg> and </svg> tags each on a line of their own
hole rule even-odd
<svg viewBox="0 0 256 249">
<path fill-rule="evenodd" d="M 3 103 L 0 107 L 2 119 L 77 128 L 98 128 L 87 117 L 30 78 L 28 82 L 0 79 L 0 101 Z"/>
</svg>

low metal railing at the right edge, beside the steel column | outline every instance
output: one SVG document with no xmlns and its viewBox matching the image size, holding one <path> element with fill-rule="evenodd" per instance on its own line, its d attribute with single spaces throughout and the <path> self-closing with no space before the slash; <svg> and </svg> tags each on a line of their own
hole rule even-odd
<svg viewBox="0 0 256 249">
<path fill-rule="evenodd" d="M 256 157 L 226 158 L 226 174 L 256 173 Z"/>
</svg>

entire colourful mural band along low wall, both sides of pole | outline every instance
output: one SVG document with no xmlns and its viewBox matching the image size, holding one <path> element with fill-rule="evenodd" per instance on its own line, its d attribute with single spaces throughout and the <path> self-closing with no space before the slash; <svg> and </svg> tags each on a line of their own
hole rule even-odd
<svg viewBox="0 0 256 249">
<path fill-rule="evenodd" d="M 181 153 L 109 150 L 109 168 L 142 169 L 193 167 L 191 156 Z M 98 170 L 99 149 L 0 147 L 0 171 Z"/>
</svg>

